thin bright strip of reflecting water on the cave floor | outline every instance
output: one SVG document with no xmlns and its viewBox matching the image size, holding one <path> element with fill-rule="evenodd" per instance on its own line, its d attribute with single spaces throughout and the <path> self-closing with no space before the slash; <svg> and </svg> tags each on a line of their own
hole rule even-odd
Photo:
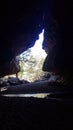
<svg viewBox="0 0 73 130">
<path fill-rule="evenodd" d="M 4 94 L 4 97 L 34 97 L 34 98 L 45 98 L 50 93 L 37 93 L 37 94 Z"/>
</svg>

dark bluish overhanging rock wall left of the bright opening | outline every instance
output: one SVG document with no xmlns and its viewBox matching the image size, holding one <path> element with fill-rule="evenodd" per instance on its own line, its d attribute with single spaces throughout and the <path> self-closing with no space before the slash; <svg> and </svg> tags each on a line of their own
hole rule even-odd
<svg viewBox="0 0 73 130">
<path fill-rule="evenodd" d="M 44 28 L 44 1 L 8 2 L 0 15 L 0 75 L 8 73 L 12 59 L 33 46 Z M 9 72 L 12 73 L 12 72 Z"/>
</svg>

